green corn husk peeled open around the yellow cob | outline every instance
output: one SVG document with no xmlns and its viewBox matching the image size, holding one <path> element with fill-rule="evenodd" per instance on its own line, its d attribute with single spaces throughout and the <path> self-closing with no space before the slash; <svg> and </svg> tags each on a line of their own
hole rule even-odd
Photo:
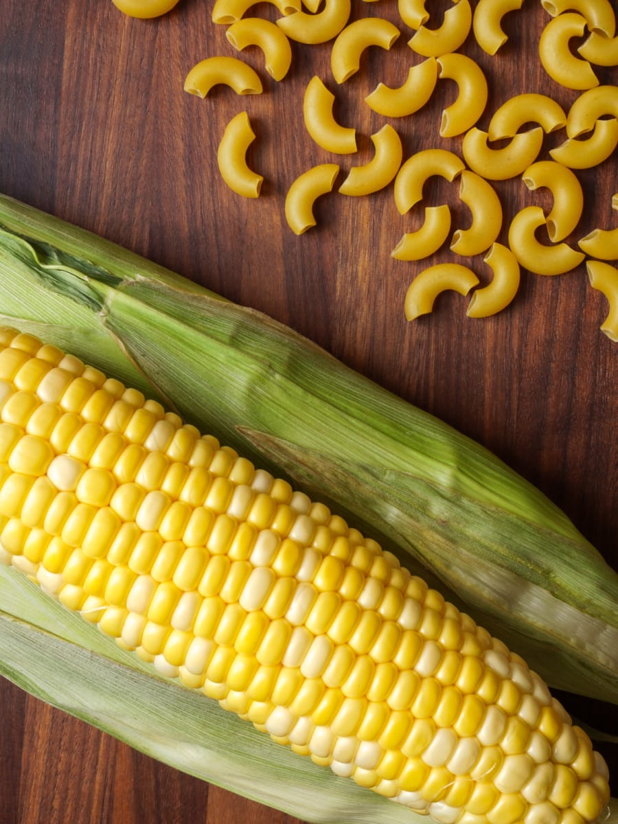
<svg viewBox="0 0 618 824">
<path fill-rule="evenodd" d="M 485 448 L 293 330 L 2 196 L 0 325 L 158 397 L 347 515 L 550 686 L 618 703 L 618 574 Z M 414 815 L 169 685 L 2 567 L 0 673 L 162 761 L 307 821 Z M 283 784 L 293 791 L 280 793 Z M 308 817 L 318 784 L 325 803 Z"/>
</svg>

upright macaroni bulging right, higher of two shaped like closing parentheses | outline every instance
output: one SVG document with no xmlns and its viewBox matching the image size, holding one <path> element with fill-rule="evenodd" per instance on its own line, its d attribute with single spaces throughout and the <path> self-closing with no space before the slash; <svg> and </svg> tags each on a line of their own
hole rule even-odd
<svg viewBox="0 0 618 824">
<path fill-rule="evenodd" d="M 442 112 L 440 135 L 453 138 L 471 129 L 487 105 L 487 81 L 478 63 L 466 54 L 442 54 L 438 57 L 438 77 L 454 80 L 457 98 Z"/>
</svg>

